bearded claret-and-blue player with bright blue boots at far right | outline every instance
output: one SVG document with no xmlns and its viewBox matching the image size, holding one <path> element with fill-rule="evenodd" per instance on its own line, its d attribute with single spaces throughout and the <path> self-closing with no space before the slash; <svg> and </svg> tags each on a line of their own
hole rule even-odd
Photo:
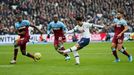
<svg viewBox="0 0 134 75">
<path fill-rule="evenodd" d="M 114 27 L 114 37 L 112 40 L 112 53 L 115 57 L 114 62 L 119 62 L 120 59 L 117 55 L 116 50 L 119 50 L 121 53 L 128 57 L 129 62 L 132 62 L 132 56 L 128 54 L 126 48 L 123 47 L 123 40 L 124 40 L 124 33 L 128 30 L 127 22 L 123 18 L 124 12 L 123 10 L 119 9 L 117 13 L 117 18 L 114 19 L 114 24 L 110 27 Z"/>
</svg>

